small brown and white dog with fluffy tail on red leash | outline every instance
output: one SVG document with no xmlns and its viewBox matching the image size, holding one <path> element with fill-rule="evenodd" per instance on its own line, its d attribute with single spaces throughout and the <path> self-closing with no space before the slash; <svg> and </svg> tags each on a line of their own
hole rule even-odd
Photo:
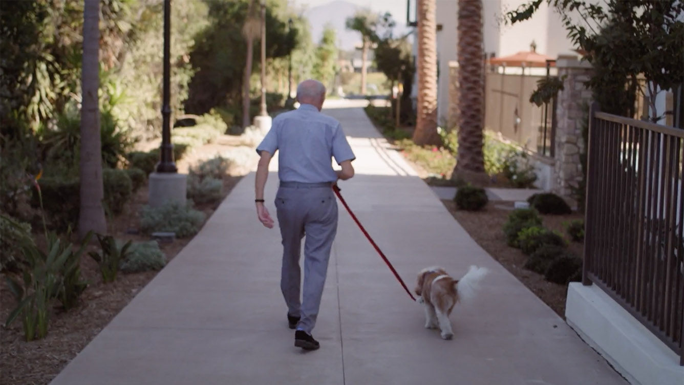
<svg viewBox="0 0 684 385">
<path fill-rule="evenodd" d="M 487 274 L 484 267 L 471 266 L 466 275 L 455 280 L 441 267 L 428 267 L 418 274 L 416 294 L 418 302 L 425 306 L 425 328 L 439 327 L 445 340 L 453 337 L 449 315 L 456 302 L 471 300 L 477 283 Z"/>
</svg>

